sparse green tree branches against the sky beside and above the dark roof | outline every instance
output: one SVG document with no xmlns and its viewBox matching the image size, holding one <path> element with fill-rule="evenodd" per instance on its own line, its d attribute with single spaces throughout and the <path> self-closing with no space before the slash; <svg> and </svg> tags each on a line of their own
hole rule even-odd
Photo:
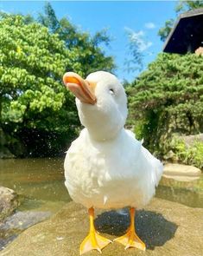
<svg viewBox="0 0 203 256">
<path fill-rule="evenodd" d="M 202 8 L 202 7 L 203 7 L 202 0 L 179 1 L 175 7 L 175 13 L 176 13 L 176 16 L 178 16 L 182 12 L 197 9 L 197 8 Z M 173 29 L 174 23 L 175 23 L 174 19 L 170 19 L 170 20 L 166 21 L 164 26 L 158 31 L 158 36 L 160 36 L 160 38 L 163 42 L 166 40 L 170 31 Z"/>
</svg>

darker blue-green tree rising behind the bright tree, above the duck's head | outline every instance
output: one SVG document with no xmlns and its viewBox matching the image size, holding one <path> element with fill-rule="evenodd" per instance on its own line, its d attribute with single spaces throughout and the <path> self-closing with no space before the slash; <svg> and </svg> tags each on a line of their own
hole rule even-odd
<svg viewBox="0 0 203 256">
<path fill-rule="evenodd" d="M 58 20 L 50 3 L 45 3 L 44 13 L 39 14 L 38 21 L 51 33 L 59 35 L 68 49 L 78 50 L 75 61 L 80 63 L 86 75 L 95 70 L 112 71 L 115 68 L 113 58 L 105 56 L 101 47 L 102 44 L 109 45 L 111 41 L 106 30 L 98 31 L 94 36 L 79 31 L 66 17 Z"/>
</svg>

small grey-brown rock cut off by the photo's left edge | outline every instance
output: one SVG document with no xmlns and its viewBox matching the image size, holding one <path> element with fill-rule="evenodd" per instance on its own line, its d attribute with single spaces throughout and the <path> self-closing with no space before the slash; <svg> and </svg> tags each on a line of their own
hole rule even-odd
<svg viewBox="0 0 203 256">
<path fill-rule="evenodd" d="M 0 223 L 13 213 L 19 204 L 18 195 L 12 189 L 0 186 Z"/>
</svg>

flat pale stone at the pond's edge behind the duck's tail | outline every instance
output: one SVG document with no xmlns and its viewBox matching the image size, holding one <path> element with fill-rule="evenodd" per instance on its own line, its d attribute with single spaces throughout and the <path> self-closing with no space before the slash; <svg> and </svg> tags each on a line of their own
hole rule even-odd
<svg viewBox="0 0 203 256">
<path fill-rule="evenodd" d="M 195 181 L 200 178 L 201 170 L 197 167 L 168 163 L 164 166 L 163 177 L 175 181 Z"/>
</svg>

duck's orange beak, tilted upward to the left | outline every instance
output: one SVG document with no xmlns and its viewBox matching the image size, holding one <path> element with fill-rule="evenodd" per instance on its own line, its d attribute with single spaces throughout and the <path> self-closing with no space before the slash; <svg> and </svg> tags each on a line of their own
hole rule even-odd
<svg viewBox="0 0 203 256">
<path fill-rule="evenodd" d="M 74 72 L 67 72 L 63 75 L 63 82 L 80 102 L 92 105 L 97 102 L 93 89 L 95 85 L 87 82 L 80 75 Z"/>
</svg>

